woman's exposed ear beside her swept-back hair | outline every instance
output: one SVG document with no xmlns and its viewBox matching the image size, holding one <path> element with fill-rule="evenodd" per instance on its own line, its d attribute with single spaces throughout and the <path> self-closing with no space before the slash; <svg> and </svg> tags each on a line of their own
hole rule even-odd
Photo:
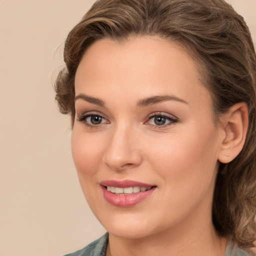
<svg viewBox="0 0 256 256">
<path fill-rule="evenodd" d="M 232 161 L 242 150 L 248 128 L 248 107 L 239 102 L 232 105 L 221 118 L 224 136 L 222 138 L 218 160 L 222 163 Z"/>
</svg>

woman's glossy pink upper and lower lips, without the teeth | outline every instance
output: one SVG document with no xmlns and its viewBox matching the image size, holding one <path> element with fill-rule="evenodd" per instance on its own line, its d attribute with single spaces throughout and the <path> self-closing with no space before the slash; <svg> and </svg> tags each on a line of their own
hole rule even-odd
<svg viewBox="0 0 256 256">
<path fill-rule="evenodd" d="M 100 182 L 101 190 L 103 193 L 104 199 L 110 204 L 118 207 L 130 207 L 134 206 L 141 201 L 149 197 L 156 186 L 152 184 L 142 183 L 133 180 L 103 180 Z M 151 189 L 146 191 L 140 191 L 132 194 L 114 194 L 106 189 L 106 186 L 115 186 L 115 187 L 130 187 L 130 186 L 151 186 Z"/>
</svg>

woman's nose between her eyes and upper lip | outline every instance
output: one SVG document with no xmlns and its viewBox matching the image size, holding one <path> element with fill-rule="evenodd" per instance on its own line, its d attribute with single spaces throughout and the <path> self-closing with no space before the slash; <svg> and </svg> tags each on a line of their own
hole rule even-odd
<svg viewBox="0 0 256 256">
<path fill-rule="evenodd" d="M 136 131 L 130 127 L 116 127 L 109 138 L 103 161 L 111 169 L 125 170 L 138 166 L 142 161 Z"/>
</svg>

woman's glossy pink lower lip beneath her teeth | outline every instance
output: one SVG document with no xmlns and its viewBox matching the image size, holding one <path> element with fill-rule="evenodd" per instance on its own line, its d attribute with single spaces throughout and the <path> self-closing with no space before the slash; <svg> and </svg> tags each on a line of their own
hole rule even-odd
<svg viewBox="0 0 256 256">
<path fill-rule="evenodd" d="M 152 194 L 155 187 L 152 187 L 146 191 L 140 191 L 132 194 L 114 194 L 108 191 L 104 186 L 101 186 L 103 191 L 103 196 L 105 200 L 114 206 L 119 207 L 130 207 L 138 204 L 139 202 L 145 200 L 148 196 Z"/>
</svg>

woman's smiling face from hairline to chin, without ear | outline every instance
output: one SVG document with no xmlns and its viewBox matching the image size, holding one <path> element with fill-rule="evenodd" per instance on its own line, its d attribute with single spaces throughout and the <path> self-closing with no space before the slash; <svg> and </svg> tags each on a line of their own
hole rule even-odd
<svg viewBox="0 0 256 256">
<path fill-rule="evenodd" d="M 185 51 L 153 36 L 96 41 L 79 63 L 75 95 L 73 160 L 111 234 L 211 222 L 222 132 Z"/>
</svg>

